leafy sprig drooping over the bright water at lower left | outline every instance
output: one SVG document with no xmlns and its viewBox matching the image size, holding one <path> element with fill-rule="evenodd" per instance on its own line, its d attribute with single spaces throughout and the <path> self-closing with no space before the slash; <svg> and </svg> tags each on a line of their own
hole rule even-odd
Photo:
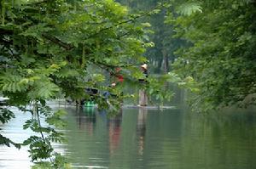
<svg viewBox="0 0 256 169">
<path fill-rule="evenodd" d="M 23 145 L 29 145 L 29 152 L 32 161 L 38 163 L 38 165 L 46 165 L 51 163 L 49 166 L 55 166 L 55 168 L 62 168 L 66 165 L 66 161 L 60 162 L 59 154 L 54 152 L 51 146 L 52 142 L 61 143 L 64 141 L 63 133 L 57 132 L 54 127 L 61 128 L 65 127 L 66 122 L 61 119 L 62 115 L 65 115 L 63 110 L 52 111 L 45 104 L 34 103 L 31 110 L 21 109 L 23 111 L 32 112 L 32 118 L 27 120 L 23 125 L 23 129 L 31 129 L 33 132 L 38 132 L 39 135 L 31 136 L 27 138 Z M 48 127 L 43 127 L 40 116 L 44 116 L 45 121 L 48 122 Z M 53 127 L 50 127 L 52 125 Z M 37 166 L 38 166 L 37 165 Z M 39 165 L 39 166 L 40 166 Z"/>
</svg>

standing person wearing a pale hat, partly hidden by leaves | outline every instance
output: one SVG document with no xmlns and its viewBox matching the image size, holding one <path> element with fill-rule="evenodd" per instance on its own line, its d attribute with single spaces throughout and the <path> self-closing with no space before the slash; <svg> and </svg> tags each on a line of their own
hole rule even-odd
<svg viewBox="0 0 256 169">
<path fill-rule="evenodd" d="M 143 70 L 144 78 L 140 79 L 139 82 L 146 83 L 146 78 L 148 77 L 148 65 L 141 65 L 141 69 Z M 145 89 L 139 90 L 139 106 L 147 106 L 148 105 L 148 96 Z"/>
</svg>

